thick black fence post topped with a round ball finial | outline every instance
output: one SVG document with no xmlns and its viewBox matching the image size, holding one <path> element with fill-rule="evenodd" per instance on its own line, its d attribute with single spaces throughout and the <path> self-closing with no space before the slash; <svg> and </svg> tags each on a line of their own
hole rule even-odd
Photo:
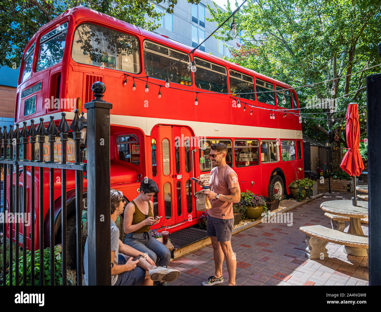
<svg viewBox="0 0 381 312">
<path fill-rule="evenodd" d="M 111 285 L 110 109 L 102 100 L 106 87 L 91 86 L 95 99 L 87 110 L 87 200 L 89 285 Z"/>
</svg>

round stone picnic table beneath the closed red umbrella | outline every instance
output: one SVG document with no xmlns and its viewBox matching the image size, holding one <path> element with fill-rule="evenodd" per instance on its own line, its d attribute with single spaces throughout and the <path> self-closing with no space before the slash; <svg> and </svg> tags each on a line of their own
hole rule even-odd
<svg viewBox="0 0 381 312">
<path fill-rule="evenodd" d="M 368 202 L 357 202 L 352 205 L 351 200 L 330 200 L 320 204 L 320 208 L 327 213 L 349 218 L 349 234 L 364 235 L 361 227 L 361 218 L 368 219 Z M 366 248 L 343 246 L 344 252 L 352 256 L 367 256 Z"/>
</svg>

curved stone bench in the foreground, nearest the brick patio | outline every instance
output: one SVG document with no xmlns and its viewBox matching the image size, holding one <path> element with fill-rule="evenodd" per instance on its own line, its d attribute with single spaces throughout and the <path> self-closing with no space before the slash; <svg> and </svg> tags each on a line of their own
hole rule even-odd
<svg viewBox="0 0 381 312">
<path fill-rule="evenodd" d="M 324 259 L 328 257 L 328 250 L 325 248 L 328 242 L 350 247 L 366 248 L 369 257 L 368 236 L 344 233 L 320 225 L 303 226 L 299 230 L 306 234 L 305 242 L 307 248 L 304 254 L 308 259 Z"/>
</svg>

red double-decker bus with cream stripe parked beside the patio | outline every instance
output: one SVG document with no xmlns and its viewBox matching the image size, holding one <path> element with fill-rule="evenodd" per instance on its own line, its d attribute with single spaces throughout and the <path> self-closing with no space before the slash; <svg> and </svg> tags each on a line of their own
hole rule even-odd
<svg viewBox="0 0 381 312">
<path fill-rule="evenodd" d="M 288 194 L 288 184 L 296 177 L 303 178 L 303 171 L 297 169 L 303 168 L 303 155 L 296 92 L 284 90 L 291 89 L 285 83 L 211 54 L 195 50 L 187 55 L 192 50 L 105 14 L 72 8 L 43 26 L 26 46 L 15 120 L 21 123 L 43 117 L 47 126 L 50 115 L 59 122 L 61 113 L 66 112 L 70 123 L 75 108 L 85 110 L 80 102 L 93 99 L 91 85 L 103 82 L 104 99 L 113 104 L 111 186 L 131 200 L 144 177 L 153 179 L 160 189 L 154 198 L 154 215 L 163 216 L 158 229 L 176 231 L 199 222 L 194 197 L 198 186 L 190 178 L 208 181 L 212 168 L 208 154 L 214 142 L 227 145 L 227 165 L 237 173 L 241 191 L 250 188 L 255 194 L 267 195 L 268 186 L 274 185 L 281 194 Z M 192 60 L 196 72 L 190 69 Z M 236 105 L 238 94 L 241 107 Z M 283 118 L 285 109 L 296 115 Z M 47 138 L 45 142 L 48 155 Z M 73 144 L 69 138 L 67 159 L 74 162 L 70 154 Z M 59 155 L 60 151 L 56 152 Z M 55 174 L 61 176 L 60 171 Z M 38 190 L 42 181 L 38 176 L 35 179 Z M 43 183 L 46 181 L 48 170 Z M 74 172 L 68 172 L 69 240 L 75 235 L 74 185 Z M 49 187 L 54 187 L 56 194 L 55 228 L 59 235 L 61 184 Z M 46 195 L 49 187 L 44 188 Z M 86 211 L 86 180 L 84 192 Z M 25 205 L 25 211 L 30 212 L 30 202 Z M 48 201 L 44 207 L 38 207 L 38 202 L 34 206 L 36 215 L 43 209 L 48 216 Z M 48 217 L 45 224 L 49 229 Z M 38 235 L 38 220 L 35 233 Z M 37 240 L 35 248 L 39 248 Z"/>
</svg>

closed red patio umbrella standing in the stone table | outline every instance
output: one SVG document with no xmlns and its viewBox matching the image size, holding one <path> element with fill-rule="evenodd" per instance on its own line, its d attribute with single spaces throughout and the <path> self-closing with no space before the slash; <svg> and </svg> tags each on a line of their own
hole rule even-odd
<svg viewBox="0 0 381 312">
<path fill-rule="evenodd" d="M 356 176 L 359 176 L 361 174 L 361 171 L 364 169 L 364 164 L 362 162 L 361 155 L 359 152 L 360 124 L 359 109 L 357 108 L 357 103 L 351 103 L 348 105 L 346 118 L 346 136 L 348 150 L 344 155 L 340 167 L 343 168 L 343 170 L 347 174 L 354 177 L 354 205 L 356 206 Z"/>
</svg>

